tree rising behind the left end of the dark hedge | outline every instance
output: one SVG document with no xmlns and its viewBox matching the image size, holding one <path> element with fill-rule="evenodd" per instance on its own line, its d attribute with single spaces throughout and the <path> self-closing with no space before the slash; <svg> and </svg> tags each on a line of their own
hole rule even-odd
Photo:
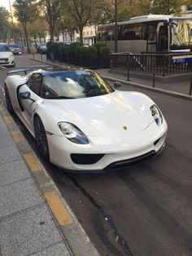
<svg viewBox="0 0 192 256">
<path fill-rule="evenodd" d="M 54 42 L 55 24 L 61 11 L 60 2 L 60 0 L 41 0 L 41 11 L 44 12 L 49 24 L 50 42 Z"/>
</svg>

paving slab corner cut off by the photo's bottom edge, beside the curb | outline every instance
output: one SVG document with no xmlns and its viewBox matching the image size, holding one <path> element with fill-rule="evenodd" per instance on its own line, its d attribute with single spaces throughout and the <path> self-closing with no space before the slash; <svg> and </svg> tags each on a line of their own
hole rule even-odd
<svg viewBox="0 0 192 256">
<path fill-rule="evenodd" d="M 32 254 L 31 256 L 69 256 L 68 249 L 66 245 L 62 242 L 57 245 L 52 245 L 49 248 L 42 250 L 37 254 Z"/>
</svg>

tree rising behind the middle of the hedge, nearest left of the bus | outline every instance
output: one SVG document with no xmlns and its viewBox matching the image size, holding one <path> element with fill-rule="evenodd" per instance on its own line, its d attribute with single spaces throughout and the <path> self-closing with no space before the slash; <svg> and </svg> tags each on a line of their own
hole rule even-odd
<svg viewBox="0 0 192 256">
<path fill-rule="evenodd" d="M 80 42 L 83 43 L 83 28 L 88 23 L 93 0 L 61 0 L 61 2 L 66 11 L 72 15 L 76 27 L 79 29 Z"/>
</svg>

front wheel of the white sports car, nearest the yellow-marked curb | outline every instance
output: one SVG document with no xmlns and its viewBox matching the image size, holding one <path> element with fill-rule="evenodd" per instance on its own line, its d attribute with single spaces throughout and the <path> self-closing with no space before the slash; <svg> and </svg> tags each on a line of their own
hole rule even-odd
<svg viewBox="0 0 192 256">
<path fill-rule="evenodd" d="M 37 148 L 41 157 L 45 161 L 50 161 L 50 152 L 49 152 L 49 146 L 46 139 L 46 130 L 43 126 L 41 118 L 38 116 L 36 116 L 34 119 L 34 131 L 35 131 L 35 139 L 37 142 Z"/>
</svg>

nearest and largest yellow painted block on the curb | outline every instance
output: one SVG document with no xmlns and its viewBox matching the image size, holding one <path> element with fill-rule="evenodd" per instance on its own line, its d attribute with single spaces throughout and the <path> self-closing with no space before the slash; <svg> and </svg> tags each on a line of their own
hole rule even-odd
<svg viewBox="0 0 192 256">
<path fill-rule="evenodd" d="M 72 217 L 55 191 L 46 192 L 44 196 L 59 225 L 63 226 L 72 223 Z"/>
</svg>

